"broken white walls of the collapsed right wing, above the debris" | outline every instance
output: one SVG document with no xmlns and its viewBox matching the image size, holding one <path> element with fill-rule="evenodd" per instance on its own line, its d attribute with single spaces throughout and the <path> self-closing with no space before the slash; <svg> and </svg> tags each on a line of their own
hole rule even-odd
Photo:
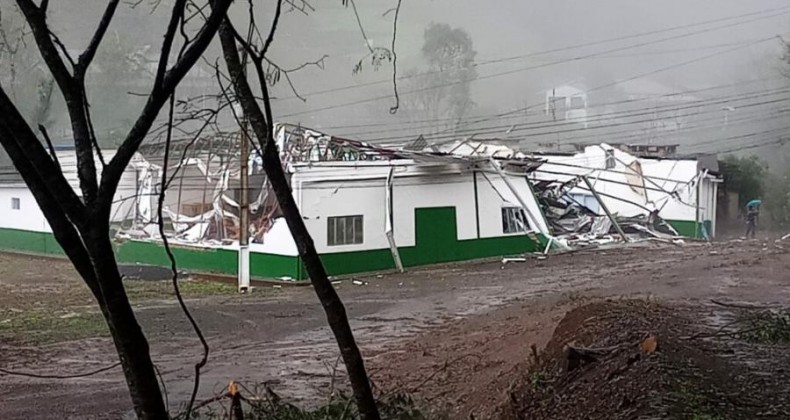
<svg viewBox="0 0 790 420">
<path fill-rule="evenodd" d="M 656 215 L 680 236 L 710 239 L 716 234 L 722 180 L 715 156 L 637 157 L 598 144 L 576 154 L 540 157 L 546 163 L 531 174 L 538 189 L 560 186 L 565 197 L 593 213 L 606 207 L 624 219 Z"/>
</svg>

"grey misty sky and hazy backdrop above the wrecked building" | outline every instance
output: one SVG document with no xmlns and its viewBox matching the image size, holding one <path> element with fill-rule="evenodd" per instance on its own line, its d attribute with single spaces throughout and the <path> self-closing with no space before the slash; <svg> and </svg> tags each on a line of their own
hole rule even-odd
<svg viewBox="0 0 790 420">
<path fill-rule="evenodd" d="M 104 3 L 79 2 L 84 7 L 53 2 L 49 16 L 53 29 L 75 56 L 87 44 Z M 169 2 L 163 1 L 158 8 L 147 0 L 136 8 L 122 5 L 98 53 L 88 94 L 95 129 L 106 147 L 117 144 L 128 131 L 130 118 L 145 100 L 140 94 L 150 89 Z M 401 109 L 391 114 L 395 103 L 392 63 L 385 61 L 376 69 L 366 58 L 368 42 L 371 47 L 391 47 L 394 13 L 390 9 L 395 3 L 357 2 L 367 40 L 352 8 L 343 7 L 339 0 L 312 2 L 315 10 L 308 15 L 286 13 L 270 57 L 286 69 L 327 57 L 323 68 L 308 66 L 291 74 L 294 88 L 306 100 L 296 97 L 282 80 L 273 88 L 276 119 L 385 144 L 406 144 L 420 135 L 447 141 L 480 132 L 482 137 L 506 139 L 527 149 L 550 145 L 559 149 L 576 141 L 594 143 L 614 137 L 632 143 L 678 143 L 688 152 L 732 153 L 742 152 L 742 145 L 759 145 L 758 137 L 780 130 L 787 121 L 781 114 L 774 116 L 784 109 L 783 102 L 763 104 L 771 97 L 755 96 L 755 92 L 790 86 L 790 81 L 780 77 L 779 41 L 780 36 L 790 35 L 790 9 L 771 12 L 787 7 L 786 0 L 405 0 L 395 43 L 399 76 L 429 68 L 422 47 L 425 30 L 432 23 L 461 29 L 473 43 L 477 78 L 468 83 L 473 104 L 462 124 L 449 130 L 446 121 L 431 121 L 424 115 L 420 119 L 419 112 L 410 112 L 409 103 L 414 102 L 410 99 L 420 93 L 409 93 L 414 85 L 408 78 L 399 80 Z M 14 21 L 13 0 L 0 0 L 0 7 L 1 27 L 13 28 L 21 22 L 19 17 Z M 273 4 L 269 9 L 261 4 L 257 10 L 261 30 L 268 31 Z M 242 2 L 234 6 L 232 16 L 239 27 L 246 24 Z M 712 22 L 717 19 L 722 20 Z M 712 23 L 700 25 L 708 21 Z M 645 33 L 651 34 L 636 36 Z M 671 37 L 675 39 L 659 42 Z M 600 42 L 606 40 L 611 42 Z M 578 47 L 582 45 L 587 46 Z M 31 47 L 32 41 L 27 48 Z M 212 68 L 218 57 L 215 42 L 179 88 L 180 97 L 219 91 Z M 354 72 L 360 60 L 360 71 Z M 7 71 L 12 61 L 25 69 L 15 80 L 9 79 Z M 41 65 L 34 50 L 23 48 L 13 59 L 4 55 L 0 81 L 4 87 L 13 86 L 26 115 L 36 123 L 43 121 L 57 142 L 67 135 L 68 120 L 57 89 L 41 115 L 42 95 L 51 83 L 44 72 L 36 70 Z M 731 86 L 716 88 L 724 85 Z M 586 92 L 590 124 L 572 126 L 549 115 L 547 93 L 563 86 Z M 738 102 L 737 95 L 749 99 Z M 670 129 L 651 128 L 640 122 L 644 116 L 607 117 L 666 107 L 667 102 L 661 100 L 667 97 L 677 101 L 676 108 L 688 108 L 674 114 L 660 108 L 654 120 L 663 121 L 662 127 L 673 120 Z M 715 101 L 726 97 L 733 98 L 733 103 Z M 690 108 L 694 101 L 716 103 Z M 535 128 L 543 123 L 549 126 Z M 551 126 L 554 123 L 556 127 Z M 229 118 L 223 124 L 228 130 L 237 129 Z M 750 133 L 761 134 L 740 138 Z M 770 156 L 779 146 L 743 151 Z"/>
</svg>

